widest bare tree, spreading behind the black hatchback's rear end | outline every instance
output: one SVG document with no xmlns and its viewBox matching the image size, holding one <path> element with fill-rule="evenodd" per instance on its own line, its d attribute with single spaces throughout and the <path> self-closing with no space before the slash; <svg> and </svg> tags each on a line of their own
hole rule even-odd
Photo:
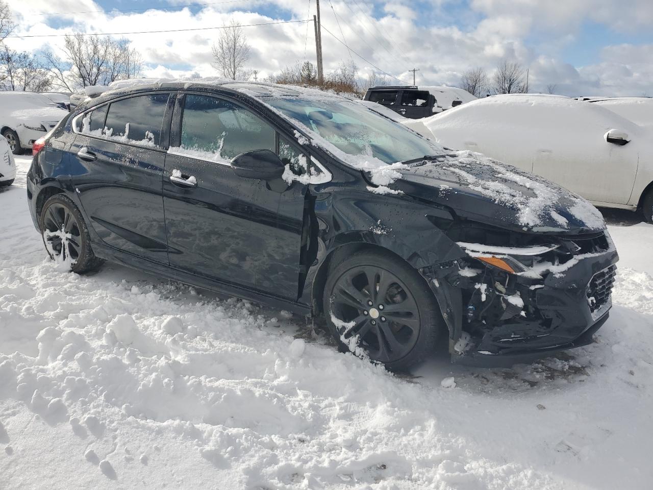
<svg viewBox="0 0 653 490">
<path fill-rule="evenodd" d="M 134 78 L 142 68 L 140 54 L 126 39 L 108 36 L 66 35 L 62 55 L 46 50 L 43 57 L 54 84 L 69 91 Z"/>
</svg>

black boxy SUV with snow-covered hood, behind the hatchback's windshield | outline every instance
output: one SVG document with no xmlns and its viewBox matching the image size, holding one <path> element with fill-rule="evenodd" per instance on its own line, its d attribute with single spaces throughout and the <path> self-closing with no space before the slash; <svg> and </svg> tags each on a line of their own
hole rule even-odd
<svg viewBox="0 0 653 490">
<path fill-rule="evenodd" d="M 462 88 L 445 86 L 370 87 L 365 101 L 387 107 L 409 119 L 421 119 L 476 99 Z"/>
</svg>

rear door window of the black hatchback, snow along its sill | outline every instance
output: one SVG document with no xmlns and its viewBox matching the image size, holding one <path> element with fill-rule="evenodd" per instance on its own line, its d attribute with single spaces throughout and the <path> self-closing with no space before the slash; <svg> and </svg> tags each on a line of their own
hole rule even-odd
<svg viewBox="0 0 653 490">
<path fill-rule="evenodd" d="M 112 102 L 104 123 L 104 137 L 161 146 L 161 126 L 167 103 L 167 93 L 138 95 Z"/>
</svg>

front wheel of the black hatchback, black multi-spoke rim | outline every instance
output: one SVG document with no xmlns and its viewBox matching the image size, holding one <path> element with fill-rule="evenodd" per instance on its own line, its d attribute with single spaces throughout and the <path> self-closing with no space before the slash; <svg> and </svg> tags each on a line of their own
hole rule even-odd
<svg viewBox="0 0 653 490">
<path fill-rule="evenodd" d="M 363 348 L 389 370 L 406 370 L 434 353 L 444 319 L 417 270 L 384 252 L 362 251 L 333 262 L 323 305 L 341 350 Z"/>
</svg>

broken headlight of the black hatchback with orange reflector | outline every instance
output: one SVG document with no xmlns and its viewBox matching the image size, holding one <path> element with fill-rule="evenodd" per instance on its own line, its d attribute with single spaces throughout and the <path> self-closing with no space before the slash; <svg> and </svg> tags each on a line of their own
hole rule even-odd
<svg viewBox="0 0 653 490">
<path fill-rule="evenodd" d="M 488 246 L 479 243 L 456 242 L 470 257 L 490 267 L 517 274 L 526 272 L 534 264 L 534 259 L 544 253 L 556 250 L 560 245 L 537 245 L 528 247 Z"/>
</svg>

